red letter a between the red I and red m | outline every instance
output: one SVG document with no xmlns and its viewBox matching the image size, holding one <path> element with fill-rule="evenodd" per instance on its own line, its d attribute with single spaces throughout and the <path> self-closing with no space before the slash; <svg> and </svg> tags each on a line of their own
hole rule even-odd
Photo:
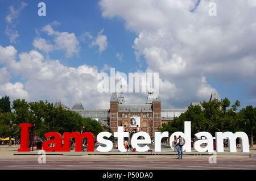
<svg viewBox="0 0 256 181">
<path fill-rule="evenodd" d="M 54 140 L 47 140 L 43 143 L 43 150 L 46 152 L 51 152 L 51 151 L 63 151 L 61 149 L 61 134 L 57 132 L 49 132 L 44 134 L 46 138 L 54 137 Z M 49 148 L 49 144 L 55 144 L 52 148 Z"/>
</svg>

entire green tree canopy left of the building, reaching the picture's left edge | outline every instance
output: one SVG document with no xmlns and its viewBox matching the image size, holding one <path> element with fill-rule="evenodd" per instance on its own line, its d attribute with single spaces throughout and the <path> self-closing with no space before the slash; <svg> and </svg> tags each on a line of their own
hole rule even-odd
<svg viewBox="0 0 256 181">
<path fill-rule="evenodd" d="M 2 99 L 1 99 L 2 100 Z M 9 97 L 3 99 L 7 104 Z M 9 100 L 10 101 L 10 100 Z M 2 102 L 1 102 L 2 103 Z M 86 131 L 97 134 L 103 131 L 100 123 L 90 118 L 84 118 L 76 112 L 64 110 L 62 107 L 54 107 L 52 103 L 30 102 L 16 99 L 10 109 L 3 106 L 4 111 L 0 112 L 0 136 L 20 135 L 19 123 L 32 123 L 35 126 L 35 134 L 43 137 L 47 132 L 81 132 L 83 127 Z M 13 109 L 13 112 L 9 111 Z M 2 109 L 2 107 L 1 107 Z"/>
</svg>

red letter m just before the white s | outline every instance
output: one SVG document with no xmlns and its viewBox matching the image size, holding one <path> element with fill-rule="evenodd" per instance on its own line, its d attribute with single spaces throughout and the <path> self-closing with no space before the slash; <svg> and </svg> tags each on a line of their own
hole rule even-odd
<svg viewBox="0 0 256 181">
<path fill-rule="evenodd" d="M 87 139 L 88 146 L 87 151 L 91 152 L 94 151 L 94 136 L 90 132 L 84 132 L 80 134 L 79 132 L 73 132 L 73 133 L 64 133 L 64 146 L 63 151 L 70 151 L 70 139 L 75 138 L 76 143 L 76 149 L 75 151 L 82 151 L 82 140 L 83 138 Z"/>
</svg>

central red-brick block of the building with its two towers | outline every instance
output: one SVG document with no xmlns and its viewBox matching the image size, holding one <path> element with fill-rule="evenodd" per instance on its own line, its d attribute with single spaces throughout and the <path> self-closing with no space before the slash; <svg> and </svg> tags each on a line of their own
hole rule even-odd
<svg viewBox="0 0 256 181">
<path fill-rule="evenodd" d="M 133 124 L 134 122 L 134 124 Z M 126 104 L 122 93 L 113 93 L 110 98 L 110 129 L 117 132 L 118 126 L 131 129 L 139 125 L 142 131 L 154 137 L 161 126 L 161 100 L 148 92 L 146 104 Z"/>
</svg>

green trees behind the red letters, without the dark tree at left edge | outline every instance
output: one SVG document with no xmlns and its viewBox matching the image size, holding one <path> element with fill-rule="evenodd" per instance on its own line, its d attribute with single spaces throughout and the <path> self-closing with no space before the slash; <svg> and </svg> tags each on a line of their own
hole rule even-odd
<svg viewBox="0 0 256 181">
<path fill-rule="evenodd" d="M 26 100 L 16 99 L 13 101 L 15 124 L 32 123 L 35 125 L 35 134 L 43 137 L 47 132 L 81 132 L 82 127 L 93 134 L 103 131 L 98 121 L 83 118 L 77 112 L 64 110 L 63 107 L 54 107 L 52 103 L 26 102 Z M 1 128 L 1 127 L 0 127 Z M 2 129 L 0 129 L 1 131 Z"/>
</svg>

